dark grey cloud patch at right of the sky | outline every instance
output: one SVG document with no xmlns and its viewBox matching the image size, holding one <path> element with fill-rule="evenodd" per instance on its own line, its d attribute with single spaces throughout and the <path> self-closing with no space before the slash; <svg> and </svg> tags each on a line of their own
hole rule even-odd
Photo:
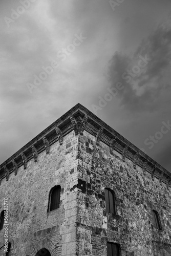
<svg viewBox="0 0 171 256">
<path fill-rule="evenodd" d="M 139 66 L 142 57 L 146 59 L 140 62 L 143 68 Z M 115 52 L 109 62 L 108 79 L 112 87 L 116 87 L 118 81 L 124 85 L 117 94 L 120 104 L 132 111 L 156 110 L 161 93 L 166 90 L 170 93 L 170 84 L 168 86 L 168 81 L 165 81 L 170 57 L 171 26 L 166 23 L 143 40 L 133 55 Z M 137 65 L 139 70 L 135 67 Z"/>
</svg>

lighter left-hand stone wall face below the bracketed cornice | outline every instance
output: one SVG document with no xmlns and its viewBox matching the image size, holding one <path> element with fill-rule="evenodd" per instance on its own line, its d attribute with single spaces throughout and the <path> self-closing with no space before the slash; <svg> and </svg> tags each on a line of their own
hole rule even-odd
<svg viewBox="0 0 171 256">
<path fill-rule="evenodd" d="M 75 255 L 76 247 L 76 191 L 77 138 L 74 131 L 50 146 L 24 166 L 17 175 L 10 174 L 1 183 L 0 212 L 3 200 L 8 198 L 10 255 L 35 255 L 41 245 L 50 248 L 51 255 Z M 61 186 L 60 207 L 47 212 L 49 191 Z M 0 230 L 0 247 L 4 243 L 4 230 Z M 41 248 L 39 248 L 41 249 Z M 37 251 L 36 251 L 37 250 Z M 0 250 L 4 255 L 4 250 Z"/>
</svg>

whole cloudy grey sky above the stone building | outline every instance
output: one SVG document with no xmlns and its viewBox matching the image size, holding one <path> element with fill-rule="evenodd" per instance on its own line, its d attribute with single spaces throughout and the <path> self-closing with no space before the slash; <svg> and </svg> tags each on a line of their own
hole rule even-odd
<svg viewBox="0 0 171 256">
<path fill-rule="evenodd" d="M 170 0 L 1 0 L 0 162 L 78 102 L 171 170 Z"/>
</svg>

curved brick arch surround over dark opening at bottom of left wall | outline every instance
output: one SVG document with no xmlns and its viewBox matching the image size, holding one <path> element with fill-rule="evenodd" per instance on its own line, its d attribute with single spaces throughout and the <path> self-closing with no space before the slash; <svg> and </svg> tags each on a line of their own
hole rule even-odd
<svg viewBox="0 0 171 256">
<path fill-rule="evenodd" d="M 52 242 L 52 240 L 50 240 L 49 238 L 44 238 L 39 240 L 35 244 L 35 246 L 31 250 L 30 256 L 35 256 L 36 253 L 42 248 L 46 248 L 51 253 L 51 256 L 57 255 L 55 244 Z"/>
</svg>

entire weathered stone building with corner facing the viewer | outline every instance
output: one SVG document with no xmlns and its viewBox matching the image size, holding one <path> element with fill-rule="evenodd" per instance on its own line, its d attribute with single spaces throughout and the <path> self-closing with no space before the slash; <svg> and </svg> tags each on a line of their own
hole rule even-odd
<svg viewBox="0 0 171 256">
<path fill-rule="evenodd" d="M 82 105 L 0 168 L 1 256 L 171 255 L 171 174 Z"/>
</svg>

